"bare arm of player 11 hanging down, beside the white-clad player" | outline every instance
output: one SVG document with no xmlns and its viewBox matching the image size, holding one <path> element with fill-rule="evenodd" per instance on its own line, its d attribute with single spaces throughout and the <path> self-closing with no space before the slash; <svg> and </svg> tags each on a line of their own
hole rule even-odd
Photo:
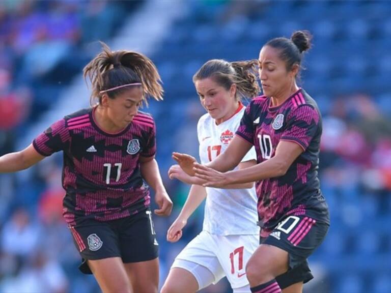
<svg viewBox="0 0 391 293">
<path fill-rule="evenodd" d="M 155 156 L 140 156 L 138 160 L 140 162 L 140 171 L 142 177 L 155 191 L 155 201 L 159 207 L 159 209 L 154 211 L 155 214 L 159 216 L 169 216 L 171 214 L 171 210 L 173 209 L 173 202 L 164 188 Z"/>
</svg>

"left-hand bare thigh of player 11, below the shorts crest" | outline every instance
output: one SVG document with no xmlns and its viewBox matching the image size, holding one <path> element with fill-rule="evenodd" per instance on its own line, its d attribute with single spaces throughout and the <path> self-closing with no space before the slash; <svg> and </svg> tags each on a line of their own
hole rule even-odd
<svg viewBox="0 0 391 293">
<path fill-rule="evenodd" d="M 89 260 L 88 265 L 103 293 L 131 293 L 131 285 L 120 257 Z"/>
</svg>

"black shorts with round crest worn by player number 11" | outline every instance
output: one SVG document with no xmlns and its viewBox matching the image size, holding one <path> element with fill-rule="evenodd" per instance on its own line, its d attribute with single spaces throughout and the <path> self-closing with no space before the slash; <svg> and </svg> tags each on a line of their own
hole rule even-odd
<svg viewBox="0 0 391 293">
<path fill-rule="evenodd" d="M 69 229 L 82 257 L 79 270 L 85 274 L 92 274 L 88 259 L 121 257 L 128 263 L 158 257 L 159 246 L 150 210 L 113 221 L 83 220 L 82 224 Z"/>
</svg>

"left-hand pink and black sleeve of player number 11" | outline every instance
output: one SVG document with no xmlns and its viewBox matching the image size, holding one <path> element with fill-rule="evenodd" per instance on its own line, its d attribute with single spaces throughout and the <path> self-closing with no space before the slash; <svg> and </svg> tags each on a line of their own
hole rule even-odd
<svg viewBox="0 0 391 293">
<path fill-rule="evenodd" d="M 35 150 L 42 156 L 50 156 L 53 153 L 63 151 L 70 141 L 69 130 L 64 119 L 53 123 L 43 133 L 33 140 Z"/>
</svg>

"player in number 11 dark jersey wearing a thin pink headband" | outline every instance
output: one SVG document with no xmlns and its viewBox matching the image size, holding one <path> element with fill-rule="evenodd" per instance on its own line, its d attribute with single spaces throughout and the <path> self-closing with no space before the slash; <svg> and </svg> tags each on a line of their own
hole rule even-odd
<svg viewBox="0 0 391 293">
<path fill-rule="evenodd" d="M 21 152 L 0 157 L 0 172 L 29 168 L 63 151 L 64 218 L 103 292 L 157 292 L 158 244 L 150 211 L 154 189 L 159 209 L 172 201 L 154 159 L 155 124 L 138 111 L 147 95 L 162 99 L 160 77 L 143 54 L 103 51 L 85 68 L 98 105 L 65 116 Z"/>
</svg>

